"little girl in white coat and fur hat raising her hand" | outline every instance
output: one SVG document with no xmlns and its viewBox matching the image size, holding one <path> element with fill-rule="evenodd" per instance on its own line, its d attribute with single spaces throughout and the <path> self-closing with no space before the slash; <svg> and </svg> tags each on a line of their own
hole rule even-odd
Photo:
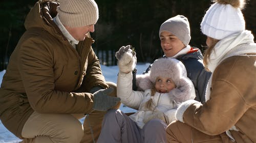
<svg viewBox="0 0 256 143">
<path fill-rule="evenodd" d="M 184 65 L 176 59 L 156 60 L 151 71 L 137 77 L 144 91 L 132 90 L 136 54 L 130 45 L 116 53 L 119 74 L 117 97 L 138 111 L 126 116 L 121 110 L 106 113 L 98 142 L 166 142 L 166 126 L 175 120 L 177 104 L 195 98 L 194 85 Z"/>
</svg>

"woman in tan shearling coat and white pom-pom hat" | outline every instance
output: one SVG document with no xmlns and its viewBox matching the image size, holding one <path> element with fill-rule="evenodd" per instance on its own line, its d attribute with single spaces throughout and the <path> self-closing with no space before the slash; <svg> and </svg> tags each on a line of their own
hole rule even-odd
<svg viewBox="0 0 256 143">
<path fill-rule="evenodd" d="M 168 142 L 256 142 L 256 44 L 245 30 L 243 1 L 218 0 L 201 23 L 205 67 L 212 72 L 206 103 L 183 102 Z"/>
</svg>

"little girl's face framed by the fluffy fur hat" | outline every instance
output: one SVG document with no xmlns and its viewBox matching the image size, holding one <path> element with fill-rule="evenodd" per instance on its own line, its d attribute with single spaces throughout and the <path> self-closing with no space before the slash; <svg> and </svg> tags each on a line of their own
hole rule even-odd
<svg viewBox="0 0 256 143">
<path fill-rule="evenodd" d="M 159 93 L 168 93 L 176 88 L 176 85 L 172 79 L 159 76 L 156 79 L 155 88 L 156 91 Z"/>
</svg>

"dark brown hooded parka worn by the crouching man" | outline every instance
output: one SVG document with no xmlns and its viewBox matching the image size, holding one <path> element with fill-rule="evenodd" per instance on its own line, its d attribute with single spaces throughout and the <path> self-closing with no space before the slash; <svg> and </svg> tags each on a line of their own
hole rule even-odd
<svg viewBox="0 0 256 143">
<path fill-rule="evenodd" d="M 31 113 L 88 113 L 94 86 L 108 88 L 89 36 L 76 49 L 53 21 L 58 2 L 39 1 L 26 17 L 0 89 L 0 119 L 22 138 Z M 79 92 L 78 92 L 79 91 Z"/>
</svg>

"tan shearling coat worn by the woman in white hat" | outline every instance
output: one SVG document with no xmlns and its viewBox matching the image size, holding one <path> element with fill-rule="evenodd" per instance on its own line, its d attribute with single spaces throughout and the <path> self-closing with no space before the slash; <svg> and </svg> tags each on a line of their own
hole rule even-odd
<svg viewBox="0 0 256 143">
<path fill-rule="evenodd" d="M 221 134 L 234 125 L 239 131 L 230 132 L 236 142 L 256 142 L 255 61 L 256 56 L 224 60 L 212 76 L 210 99 L 203 106 L 190 105 L 183 114 L 184 122 L 209 135 Z"/>
</svg>

